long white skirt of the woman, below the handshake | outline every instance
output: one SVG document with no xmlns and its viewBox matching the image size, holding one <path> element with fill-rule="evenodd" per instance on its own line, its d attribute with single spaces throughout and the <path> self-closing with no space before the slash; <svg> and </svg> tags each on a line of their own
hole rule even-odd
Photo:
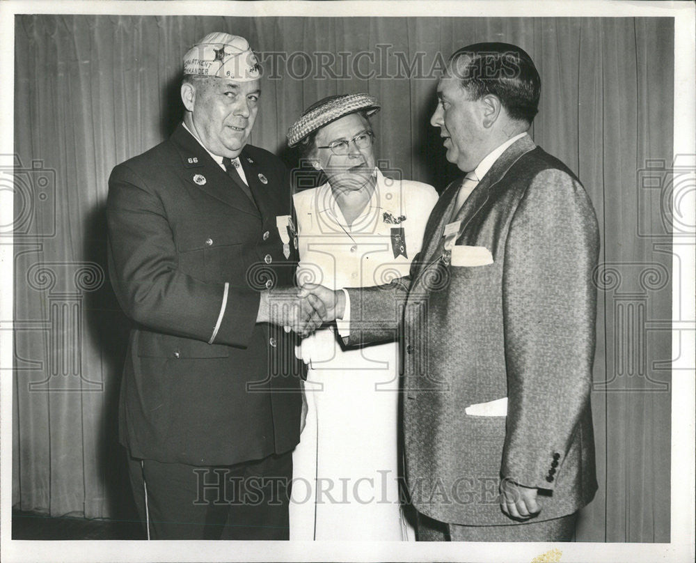
<svg viewBox="0 0 696 563">
<path fill-rule="evenodd" d="M 413 541 L 400 502 L 397 345 L 303 342 L 307 422 L 292 456 L 291 540 Z"/>
</svg>

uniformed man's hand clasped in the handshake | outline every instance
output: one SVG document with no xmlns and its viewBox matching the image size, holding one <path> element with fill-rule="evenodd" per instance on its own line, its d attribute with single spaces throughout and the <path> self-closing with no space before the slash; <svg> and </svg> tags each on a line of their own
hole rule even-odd
<svg viewBox="0 0 696 563">
<path fill-rule="evenodd" d="M 296 288 L 276 288 L 261 293 L 257 323 L 273 323 L 303 337 L 324 323 L 326 308 L 314 295 L 300 295 Z"/>
</svg>

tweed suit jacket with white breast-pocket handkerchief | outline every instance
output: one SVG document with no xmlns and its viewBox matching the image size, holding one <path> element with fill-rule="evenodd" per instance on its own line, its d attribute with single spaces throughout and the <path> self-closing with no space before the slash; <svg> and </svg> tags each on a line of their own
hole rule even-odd
<svg viewBox="0 0 696 563">
<path fill-rule="evenodd" d="M 501 479 L 543 493 L 538 520 L 571 514 L 596 491 L 590 385 L 599 235 L 578 178 L 529 137 L 493 164 L 455 220 L 459 182 L 436 204 L 409 279 L 349 289 L 349 344 L 402 341 L 406 482 L 413 504 L 461 525 L 514 525 Z M 454 254 L 484 247 L 486 265 Z M 477 249 L 480 251 L 480 248 Z M 445 253 L 446 254 L 446 253 Z M 507 397 L 507 416 L 471 405 Z"/>
</svg>

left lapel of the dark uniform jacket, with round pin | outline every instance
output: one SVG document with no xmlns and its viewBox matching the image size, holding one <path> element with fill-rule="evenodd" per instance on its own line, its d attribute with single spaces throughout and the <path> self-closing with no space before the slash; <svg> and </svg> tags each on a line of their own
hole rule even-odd
<svg viewBox="0 0 696 563">
<path fill-rule="evenodd" d="M 188 183 L 228 206 L 259 216 L 258 210 L 242 188 L 213 160 L 193 135 L 184 129 L 184 125 L 179 125 L 171 140 L 184 164 L 182 176 Z"/>
</svg>

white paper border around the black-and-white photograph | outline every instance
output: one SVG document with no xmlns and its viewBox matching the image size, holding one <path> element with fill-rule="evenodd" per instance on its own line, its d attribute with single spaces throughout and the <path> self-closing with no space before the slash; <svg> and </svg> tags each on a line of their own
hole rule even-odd
<svg viewBox="0 0 696 563">
<path fill-rule="evenodd" d="M 393 16 L 394 1 L 0 1 L 0 155 L 13 154 L 14 15 L 294 15 L 311 17 Z M 690 1 L 399 1 L 403 17 L 674 17 L 674 155 L 690 155 L 696 169 L 696 20 Z M 9 70 L 12 69 L 10 72 Z M 660 85 L 656 84 L 656 88 Z M 692 125 L 688 125 L 691 123 Z M 5 157 L 1 157 L 5 158 Z M 10 157 L 11 158 L 11 157 Z M 686 158 L 689 158 L 687 156 Z M 0 162 L 5 165 L 6 162 Z M 693 174 L 692 174 L 693 176 Z M 694 189 L 692 184 L 692 190 Z M 675 193 L 675 199 L 679 194 Z M 692 194 L 693 197 L 693 194 Z M 6 201 L 5 199 L 1 201 Z M 683 208 L 682 208 L 683 210 Z M 696 224 L 695 209 L 682 217 Z M 13 221 L 0 208 L 0 225 Z M 528 563 L 553 548 L 562 562 L 685 562 L 694 557 L 695 499 L 695 277 L 696 241 L 674 241 L 672 369 L 671 543 L 408 543 L 280 541 L 22 541 L 11 538 L 13 250 L 0 245 L 0 559 L 3 562 L 150 561 L 466 561 Z M 681 276 L 677 283 L 677 276 Z M 680 291 L 677 292 L 677 288 Z M 679 331 L 678 329 L 682 330 Z M 686 330 L 683 330 L 686 329 Z M 680 341 L 681 335 L 681 341 Z"/>
</svg>

